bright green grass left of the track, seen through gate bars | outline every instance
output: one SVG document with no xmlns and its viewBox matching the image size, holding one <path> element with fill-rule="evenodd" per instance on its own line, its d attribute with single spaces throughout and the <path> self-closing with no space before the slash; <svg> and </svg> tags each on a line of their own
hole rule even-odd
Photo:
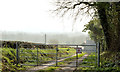
<svg viewBox="0 0 120 72">
<path fill-rule="evenodd" d="M 75 49 L 71 48 L 69 49 L 69 51 L 67 51 L 68 48 L 58 48 L 58 58 L 59 57 L 69 57 L 73 54 L 75 54 Z M 29 62 L 25 62 L 28 59 L 29 60 L 37 60 L 37 49 L 35 48 L 34 50 L 31 49 L 20 49 L 22 53 L 20 53 L 20 59 L 22 62 L 24 62 L 24 64 L 30 64 Z M 56 58 L 56 49 L 38 49 L 38 59 L 42 62 L 39 62 L 39 64 L 41 63 L 46 63 L 47 61 L 52 61 L 55 60 Z M 32 54 L 31 54 L 32 53 Z M 42 53 L 42 54 L 40 54 Z M 54 54 L 43 54 L 43 53 L 54 53 Z M 30 58 L 25 58 L 25 56 L 30 57 Z M 33 62 L 31 64 L 34 64 Z"/>
</svg>

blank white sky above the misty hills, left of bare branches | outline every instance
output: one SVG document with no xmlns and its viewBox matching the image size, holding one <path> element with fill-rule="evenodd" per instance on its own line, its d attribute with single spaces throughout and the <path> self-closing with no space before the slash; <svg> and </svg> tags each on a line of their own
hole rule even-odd
<svg viewBox="0 0 120 72">
<path fill-rule="evenodd" d="M 0 31 L 72 32 L 73 21 L 53 17 L 49 12 L 53 0 L 0 0 Z M 81 32 L 84 19 L 76 22 L 74 32 Z"/>
</svg>

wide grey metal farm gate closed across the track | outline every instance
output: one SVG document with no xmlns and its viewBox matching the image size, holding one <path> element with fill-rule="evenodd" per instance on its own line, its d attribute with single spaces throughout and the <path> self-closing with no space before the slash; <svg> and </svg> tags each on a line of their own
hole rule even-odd
<svg viewBox="0 0 120 72">
<path fill-rule="evenodd" d="M 94 58 L 94 64 L 99 66 L 99 44 L 38 44 L 37 47 L 23 47 L 23 45 L 18 45 L 16 43 L 17 64 L 27 66 L 91 67 L 84 65 L 86 62 L 79 59 L 81 53 L 78 52 L 78 48 L 81 49 L 82 54 L 86 53 L 90 55 L 94 53 L 96 56 Z M 85 58 L 87 58 L 87 56 Z"/>
</svg>

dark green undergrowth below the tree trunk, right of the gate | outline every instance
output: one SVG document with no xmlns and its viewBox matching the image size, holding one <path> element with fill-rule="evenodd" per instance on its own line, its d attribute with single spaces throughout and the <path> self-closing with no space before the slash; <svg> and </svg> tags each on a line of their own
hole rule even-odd
<svg viewBox="0 0 120 72">
<path fill-rule="evenodd" d="M 120 52 L 106 51 L 101 54 L 100 60 L 101 69 L 120 71 Z"/>
</svg>

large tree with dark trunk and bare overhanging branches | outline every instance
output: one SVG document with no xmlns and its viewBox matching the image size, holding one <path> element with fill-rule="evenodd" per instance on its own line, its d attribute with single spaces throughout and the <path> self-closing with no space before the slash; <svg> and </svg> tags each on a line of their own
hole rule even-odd
<svg viewBox="0 0 120 72">
<path fill-rule="evenodd" d="M 56 9 L 53 10 L 53 12 L 61 17 L 69 15 L 74 20 L 82 20 L 81 15 L 84 17 L 91 16 L 92 18 L 97 15 L 104 31 L 107 47 L 110 51 L 120 51 L 119 3 L 85 2 L 85 0 L 56 0 L 55 5 Z"/>
</svg>

